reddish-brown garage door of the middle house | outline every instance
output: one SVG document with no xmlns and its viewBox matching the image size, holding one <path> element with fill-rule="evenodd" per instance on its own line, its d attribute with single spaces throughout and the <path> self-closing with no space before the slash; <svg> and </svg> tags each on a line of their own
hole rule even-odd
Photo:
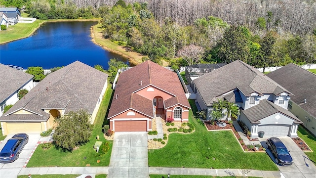
<svg viewBox="0 0 316 178">
<path fill-rule="evenodd" d="M 115 121 L 115 132 L 147 132 L 147 121 Z"/>
</svg>

